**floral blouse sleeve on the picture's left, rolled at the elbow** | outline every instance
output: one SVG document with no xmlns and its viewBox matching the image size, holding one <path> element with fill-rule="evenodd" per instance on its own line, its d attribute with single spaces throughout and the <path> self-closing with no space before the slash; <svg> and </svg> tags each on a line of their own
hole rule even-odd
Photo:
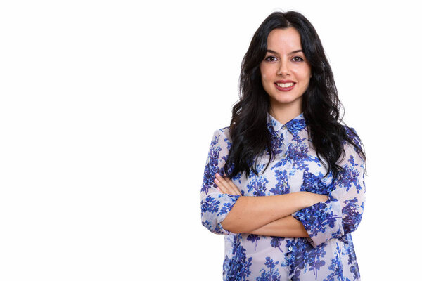
<svg viewBox="0 0 422 281">
<path fill-rule="evenodd" d="M 238 195 L 223 194 L 215 185 L 215 173 L 224 175 L 224 164 L 229 155 L 231 140 L 229 129 L 219 129 L 214 132 L 208 152 L 207 163 L 200 190 L 201 221 L 203 226 L 216 234 L 229 234 L 222 228 L 222 221 L 238 200 Z"/>
</svg>

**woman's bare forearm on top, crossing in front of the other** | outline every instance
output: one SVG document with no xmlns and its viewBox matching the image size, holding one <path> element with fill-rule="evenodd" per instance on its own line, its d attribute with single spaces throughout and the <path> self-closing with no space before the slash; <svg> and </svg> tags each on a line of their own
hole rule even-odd
<svg viewBox="0 0 422 281">
<path fill-rule="evenodd" d="M 250 233 L 272 221 L 312 206 L 319 200 L 324 200 L 324 195 L 316 196 L 309 192 L 262 197 L 242 196 L 222 221 L 222 227 L 231 233 Z"/>
</svg>

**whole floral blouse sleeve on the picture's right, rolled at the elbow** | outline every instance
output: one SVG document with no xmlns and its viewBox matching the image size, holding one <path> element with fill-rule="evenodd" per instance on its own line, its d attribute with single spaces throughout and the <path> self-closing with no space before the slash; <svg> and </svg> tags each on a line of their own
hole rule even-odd
<svg viewBox="0 0 422 281">
<path fill-rule="evenodd" d="M 353 140 L 360 144 L 354 129 Z M 352 145 L 345 145 L 340 162 L 343 171 L 332 183 L 328 200 L 292 214 L 309 235 L 308 241 L 318 247 L 331 238 L 340 238 L 357 229 L 364 211 L 364 159 Z"/>
</svg>

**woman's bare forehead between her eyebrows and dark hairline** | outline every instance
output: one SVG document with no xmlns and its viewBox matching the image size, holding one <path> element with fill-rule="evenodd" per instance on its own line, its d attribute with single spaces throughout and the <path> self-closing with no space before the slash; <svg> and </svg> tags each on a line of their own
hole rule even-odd
<svg viewBox="0 0 422 281">
<path fill-rule="evenodd" d="M 291 51 L 291 49 L 301 49 L 300 34 L 293 27 L 277 28 L 271 30 L 267 38 L 267 48 L 273 51 Z"/>
</svg>

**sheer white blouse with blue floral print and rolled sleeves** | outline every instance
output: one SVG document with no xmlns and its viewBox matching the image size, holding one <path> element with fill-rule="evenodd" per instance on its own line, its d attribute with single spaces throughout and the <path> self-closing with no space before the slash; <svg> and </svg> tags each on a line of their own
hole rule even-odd
<svg viewBox="0 0 422 281">
<path fill-rule="evenodd" d="M 350 143 L 343 143 L 344 157 L 338 164 L 344 171 L 335 181 L 310 146 L 303 113 L 281 124 L 268 115 L 276 158 L 264 170 L 268 153 L 258 159 L 259 176 L 238 174 L 231 180 L 244 196 L 282 195 L 308 191 L 328 195 L 326 202 L 301 209 L 292 216 L 300 221 L 309 237 L 272 237 L 230 233 L 221 222 L 238 200 L 222 194 L 213 182 L 215 173 L 224 175 L 231 148 L 229 128 L 215 131 L 203 178 L 202 224 L 212 233 L 224 234 L 223 280 L 360 280 L 352 236 L 364 211 L 364 160 Z M 362 145 L 356 131 L 347 134 Z"/>
</svg>

